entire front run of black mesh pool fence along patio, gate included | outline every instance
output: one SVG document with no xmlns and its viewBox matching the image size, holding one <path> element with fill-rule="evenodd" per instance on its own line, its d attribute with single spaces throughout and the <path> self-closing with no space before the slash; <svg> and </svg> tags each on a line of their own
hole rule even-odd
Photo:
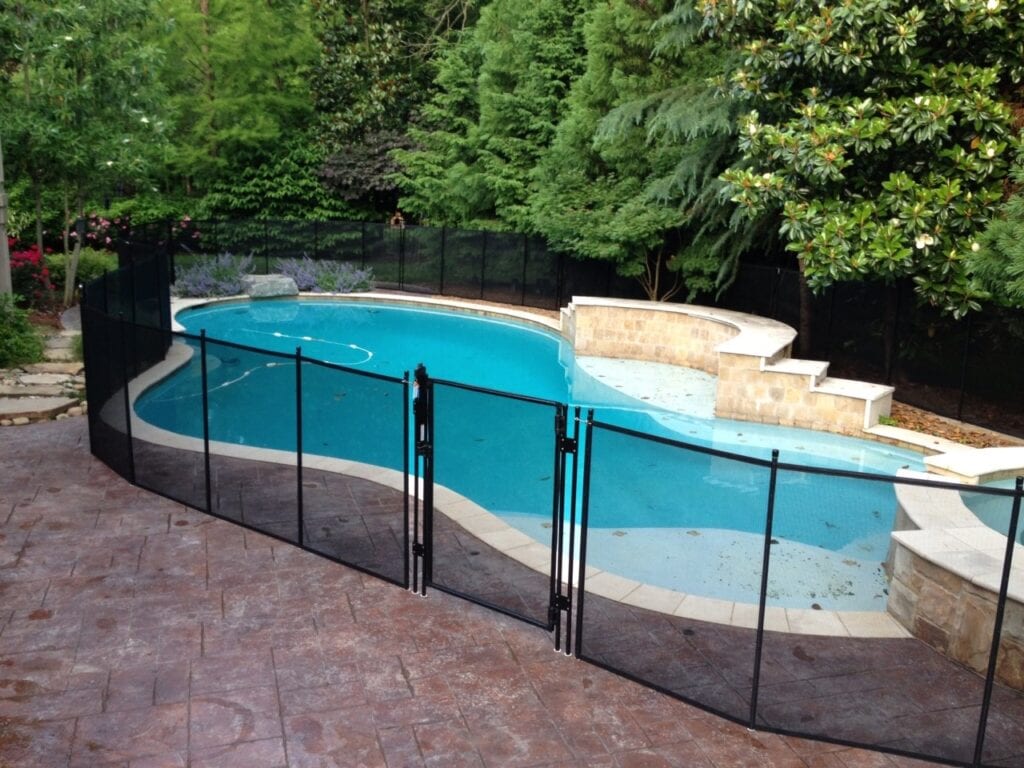
<svg viewBox="0 0 1024 768">
<path fill-rule="evenodd" d="M 1005 551 L 984 553 L 990 578 L 957 607 L 949 607 L 952 585 L 927 561 L 905 551 L 890 557 L 889 604 L 913 617 L 918 637 L 892 636 L 877 627 L 887 613 L 821 604 L 848 587 L 795 548 L 820 524 L 798 501 L 814 494 L 827 507 L 879 484 L 934 499 L 958 496 L 959 486 L 716 451 L 565 403 L 434 380 L 422 366 L 413 377 L 378 376 L 300 348 L 286 354 L 179 333 L 168 288 L 158 255 L 83 295 L 91 450 L 129 481 L 399 587 L 444 591 L 527 622 L 567 654 L 751 728 L 949 765 L 1024 763 L 1024 614 L 1008 599 L 1020 480 L 977 489 L 1005 507 L 1009 537 Z M 180 410 L 186 434 L 156 429 L 133 404 L 179 369 L 173 392 L 153 396 Z M 268 394 L 282 387 L 288 397 Z M 232 408 L 294 437 L 284 450 L 252 445 L 223 418 Z M 352 439 L 366 434 L 369 447 Z M 542 451 L 531 447 L 538 436 Z M 690 479 L 669 494 L 635 482 L 655 476 Z M 821 476 L 826 485 L 810 483 Z M 496 477 L 488 498 L 469 496 L 480 478 Z M 752 478 L 756 493 L 742 492 Z M 626 483 L 640 520 L 621 530 L 622 497 L 610 489 Z M 715 501 L 721 493 L 728 511 Z M 545 541 L 488 510 L 540 526 Z M 727 527 L 726 514 L 757 532 Z M 878 510 L 849 516 L 857 514 Z M 856 520 L 826 524 L 840 539 L 845 525 L 856 528 Z M 866 546 L 842 542 L 843 552 Z M 624 579 L 614 563 L 628 558 L 654 575 L 686 570 L 699 586 L 684 595 Z M 910 594 L 906 582 L 915 579 Z M 734 600 L 738 588 L 756 602 Z M 971 632 L 957 635 L 956 625 Z M 957 654 L 967 662 L 950 660 Z"/>
</svg>

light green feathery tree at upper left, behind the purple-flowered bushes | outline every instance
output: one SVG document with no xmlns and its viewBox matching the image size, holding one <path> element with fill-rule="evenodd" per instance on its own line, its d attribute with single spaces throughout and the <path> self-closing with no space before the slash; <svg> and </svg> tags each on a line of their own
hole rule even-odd
<svg viewBox="0 0 1024 768">
<path fill-rule="evenodd" d="M 316 40 L 305 2 L 160 0 L 154 24 L 176 114 L 168 170 L 186 194 L 278 162 L 308 130 Z"/>
</svg>

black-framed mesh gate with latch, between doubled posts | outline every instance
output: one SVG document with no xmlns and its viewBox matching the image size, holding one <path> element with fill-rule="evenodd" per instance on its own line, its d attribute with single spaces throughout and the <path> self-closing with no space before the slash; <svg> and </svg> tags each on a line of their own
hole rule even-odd
<svg viewBox="0 0 1024 768">
<path fill-rule="evenodd" d="M 434 480 L 478 505 L 435 490 L 435 586 L 548 626 L 554 451 L 553 404 L 434 383 Z"/>
</svg>

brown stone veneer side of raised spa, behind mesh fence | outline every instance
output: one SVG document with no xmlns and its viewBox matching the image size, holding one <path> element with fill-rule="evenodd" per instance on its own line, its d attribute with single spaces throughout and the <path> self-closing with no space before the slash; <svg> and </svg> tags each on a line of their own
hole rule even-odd
<svg viewBox="0 0 1024 768">
<path fill-rule="evenodd" d="M 996 595 L 893 542 L 889 612 L 940 653 L 982 675 L 988 670 Z M 1024 690 L 1024 606 L 1009 599 L 995 668 L 998 682 Z"/>
</svg>

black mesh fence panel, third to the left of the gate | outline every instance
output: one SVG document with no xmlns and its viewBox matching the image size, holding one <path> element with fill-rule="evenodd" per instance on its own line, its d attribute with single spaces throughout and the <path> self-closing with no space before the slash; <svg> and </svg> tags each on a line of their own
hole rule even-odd
<svg viewBox="0 0 1024 768">
<path fill-rule="evenodd" d="M 137 327 L 137 347 L 162 345 L 165 332 Z M 206 464 L 203 452 L 203 377 L 199 340 L 174 334 L 175 355 L 188 361 L 150 390 L 136 408 L 132 432 L 135 482 L 162 496 L 206 510 Z M 152 420 L 152 421 L 151 421 Z M 160 425 L 158 427 L 158 425 Z M 173 429 L 168 429 L 172 427 Z"/>
</svg>

